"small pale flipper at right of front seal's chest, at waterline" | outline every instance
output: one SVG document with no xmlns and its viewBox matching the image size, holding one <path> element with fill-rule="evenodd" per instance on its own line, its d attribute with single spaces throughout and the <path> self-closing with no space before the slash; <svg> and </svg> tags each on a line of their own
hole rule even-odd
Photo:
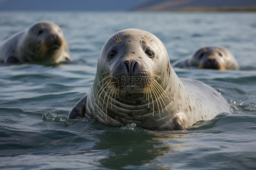
<svg viewBox="0 0 256 170">
<path fill-rule="evenodd" d="M 188 120 L 184 113 L 177 113 L 173 116 L 174 130 L 186 130 L 188 127 Z"/>
</svg>

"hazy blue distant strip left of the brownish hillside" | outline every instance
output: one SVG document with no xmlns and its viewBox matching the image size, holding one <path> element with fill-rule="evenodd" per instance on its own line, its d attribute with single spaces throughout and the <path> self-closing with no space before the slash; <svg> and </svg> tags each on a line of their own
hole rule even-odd
<svg viewBox="0 0 256 170">
<path fill-rule="evenodd" d="M 145 0 L 0 0 L 0 10 L 129 10 Z"/>
</svg>

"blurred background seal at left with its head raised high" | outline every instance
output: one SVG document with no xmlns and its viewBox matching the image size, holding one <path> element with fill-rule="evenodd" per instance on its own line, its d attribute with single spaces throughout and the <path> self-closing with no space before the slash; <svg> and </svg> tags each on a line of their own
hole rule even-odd
<svg viewBox="0 0 256 170">
<path fill-rule="evenodd" d="M 61 28 L 50 22 L 38 22 L 0 45 L 0 61 L 56 64 L 71 60 L 67 51 Z"/>
</svg>

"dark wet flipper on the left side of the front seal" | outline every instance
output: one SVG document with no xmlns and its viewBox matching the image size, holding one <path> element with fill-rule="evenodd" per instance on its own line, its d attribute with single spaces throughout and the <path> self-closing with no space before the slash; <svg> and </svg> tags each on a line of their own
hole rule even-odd
<svg viewBox="0 0 256 170">
<path fill-rule="evenodd" d="M 73 109 L 69 112 L 68 119 L 79 119 L 84 117 L 86 108 L 87 94 L 77 102 Z"/>
</svg>

